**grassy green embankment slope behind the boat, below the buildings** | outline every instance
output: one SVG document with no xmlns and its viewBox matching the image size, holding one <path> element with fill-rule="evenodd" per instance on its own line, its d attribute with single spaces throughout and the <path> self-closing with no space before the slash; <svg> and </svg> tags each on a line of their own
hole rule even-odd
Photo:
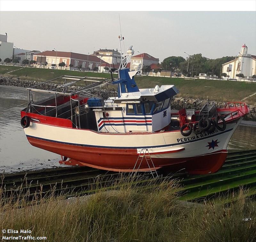
<svg viewBox="0 0 256 242">
<path fill-rule="evenodd" d="M 0 74 L 17 69 L 17 66 L 0 66 Z M 20 67 L 18 67 L 19 69 Z M 73 76 L 92 76 L 111 78 L 109 73 L 98 72 L 79 72 L 68 70 L 54 70 L 43 68 L 22 68 L 16 70 L 8 76 L 19 77 L 20 79 L 45 81 L 51 80 L 62 75 Z M 114 74 L 114 77 L 117 75 Z M 182 78 L 136 76 L 136 82 L 139 88 L 155 87 L 156 85 L 175 85 L 180 93 L 178 96 L 184 98 L 200 98 L 215 101 L 241 101 L 243 98 L 256 92 L 256 83 L 220 81 L 220 80 L 185 80 Z M 244 100 L 249 104 L 256 104 L 256 95 Z"/>
</svg>

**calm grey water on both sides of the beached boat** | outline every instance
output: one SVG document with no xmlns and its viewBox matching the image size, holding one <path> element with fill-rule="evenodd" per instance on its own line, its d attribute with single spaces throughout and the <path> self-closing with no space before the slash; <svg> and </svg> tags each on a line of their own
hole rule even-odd
<svg viewBox="0 0 256 242">
<path fill-rule="evenodd" d="M 27 91 L 19 87 L 0 86 L 0 172 L 63 166 L 60 156 L 33 147 L 20 126 L 20 110 L 26 105 Z M 18 106 L 20 105 L 20 106 Z M 256 127 L 240 125 L 229 144 L 229 151 L 256 149 Z"/>
</svg>

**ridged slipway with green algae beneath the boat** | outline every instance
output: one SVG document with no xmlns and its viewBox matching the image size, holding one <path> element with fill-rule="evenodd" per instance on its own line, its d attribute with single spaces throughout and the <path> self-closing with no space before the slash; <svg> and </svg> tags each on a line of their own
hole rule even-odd
<svg viewBox="0 0 256 242">
<path fill-rule="evenodd" d="M 128 174 L 124 174 L 128 176 Z M 167 177 L 180 180 L 181 199 L 198 200 L 212 198 L 239 189 L 241 185 L 250 188 L 251 195 L 256 194 L 256 150 L 228 153 L 227 160 L 220 171 L 208 175 L 188 175 L 186 173 L 170 174 Z M 69 194 L 89 194 L 101 187 L 111 189 L 113 183 L 120 178 L 117 172 L 108 172 L 88 167 L 65 167 L 31 171 L 28 173 L 6 174 L 2 188 L 8 196 L 13 193 L 30 197 L 35 193 L 55 193 L 69 191 Z M 166 176 L 160 176 L 159 182 Z M 140 181 L 147 186 L 152 181 L 148 174 Z M 21 189 L 22 188 L 22 189 Z"/>
</svg>

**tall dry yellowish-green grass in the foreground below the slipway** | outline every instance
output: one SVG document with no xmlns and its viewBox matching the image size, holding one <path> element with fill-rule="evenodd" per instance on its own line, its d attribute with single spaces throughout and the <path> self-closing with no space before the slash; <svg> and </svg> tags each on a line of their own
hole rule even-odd
<svg viewBox="0 0 256 242">
<path fill-rule="evenodd" d="M 111 191 L 100 187 L 68 200 L 67 191 L 56 196 L 53 188 L 45 197 L 39 191 L 32 201 L 28 191 L 7 197 L 2 186 L 0 228 L 29 229 L 51 242 L 256 241 L 256 202 L 246 191 L 229 206 L 191 206 L 179 201 L 177 180 L 142 184 L 143 177 L 121 178 L 111 181 Z"/>
</svg>

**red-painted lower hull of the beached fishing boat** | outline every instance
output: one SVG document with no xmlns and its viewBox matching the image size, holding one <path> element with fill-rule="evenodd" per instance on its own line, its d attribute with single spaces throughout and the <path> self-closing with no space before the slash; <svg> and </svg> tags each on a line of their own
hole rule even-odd
<svg viewBox="0 0 256 242">
<path fill-rule="evenodd" d="M 137 149 L 107 149 L 62 144 L 27 137 L 30 144 L 38 148 L 72 157 L 61 164 L 79 165 L 99 168 L 110 171 L 131 172 L 138 159 Z M 168 168 L 180 170 L 185 168 L 190 174 L 208 174 L 218 171 L 227 157 L 227 150 L 212 152 L 210 154 L 185 158 L 152 158 L 156 169 Z M 138 164 L 139 166 L 139 164 Z M 137 166 L 137 167 L 138 167 Z M 135 170 L 137 170 L 135 167 Z M 152 168 L 151 168 L 152 169 Z M 148 171 L 146 160 L 142 160 L 139 171 Z"/>
</svg>

